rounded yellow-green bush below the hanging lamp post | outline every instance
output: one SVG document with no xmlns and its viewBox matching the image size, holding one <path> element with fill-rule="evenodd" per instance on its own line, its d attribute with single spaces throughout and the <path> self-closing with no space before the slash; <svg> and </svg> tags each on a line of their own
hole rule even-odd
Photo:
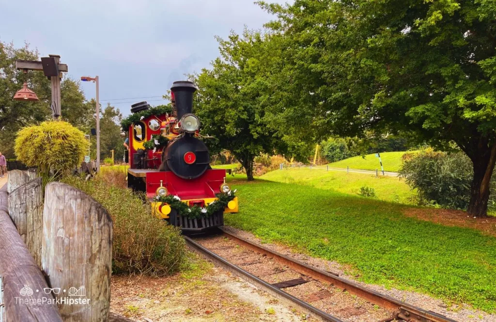
<svg viewBox="0 0 496 322">
<path fill-rule="evenodd" d="M 71 170 L 84 160 L 88 141 L 84 133 L 63 121 L 46 121 L 17 132 L 14 151 L 27 166 L 55 174 Z"/>
</svg>

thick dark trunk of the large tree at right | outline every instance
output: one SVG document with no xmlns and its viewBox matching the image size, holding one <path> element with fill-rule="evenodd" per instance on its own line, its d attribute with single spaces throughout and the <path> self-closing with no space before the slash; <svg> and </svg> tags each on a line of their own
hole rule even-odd
<svg viewBox="0 0 496 322">
<path fill-rule="evenodd" d="M 491 192 L 491 177 L 496 163 L 496 144 L 491 147 L 486 146 L 485 149 L 480 146 L 478 148 L 479 153 L 469 156 L 474 166 L 474 178 L 472 179 L 467 214 L 485 217 L 488 212 L 489 194 Z"/>
</svg>

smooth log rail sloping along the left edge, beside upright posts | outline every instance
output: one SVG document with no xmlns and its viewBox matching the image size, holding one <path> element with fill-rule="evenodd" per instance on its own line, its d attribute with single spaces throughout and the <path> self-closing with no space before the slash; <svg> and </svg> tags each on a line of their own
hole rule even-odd
<svg viewBox="0 0 496 322">
<path fill-rule="evenodd" d="M 5 322 L 62 322 L 52 294 L 44 292 L 48 284 L 43 273 L 8 216 L 4 188 L 0 190 L 0 275 Z"/>
</svg>

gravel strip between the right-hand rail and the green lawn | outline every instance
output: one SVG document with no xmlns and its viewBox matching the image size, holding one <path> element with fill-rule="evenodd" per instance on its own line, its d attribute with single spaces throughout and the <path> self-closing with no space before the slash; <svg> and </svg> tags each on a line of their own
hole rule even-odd
<svg viewBox="0 0 496 322">
<path fill-rule="evenodd" d="M 224 226 L 224 228 L 232 233 L 239 235 L 251 242 L 256 242 L 261 244 L 260 240 L 256 238 L 254 235 L 238 230 L 232 227 Z M 479 322 L 496 322 L 496 314 L 488 314 L 483 311 L 474 310 L 469 305 L 466 304 L 453 304 L 453 303 L 445 303 L 440 299 L 435 299 L 429 295 L 410 292 L 410 291 L 402 291 L 397 289 L 386 289 L 380 285 L 375 284 L 366 284 L 361 281 L 357 281 L 356 277 L 347 275 L 345 271 L 349 271 L 343 265 L 334 262 L 325 260 L 322 258 L 311 257 L 307 254 L 295 252 L 293 249 L 286 245 L 274 244 L 274 243 L 263 243 L 263 246 L 269 248 L 271 250 L 275 250 L 281 254 L 290 256 L 292 258 L 298 259 L 306 264 L 312 265 L 316 268 L 322 269 L 324 271 L 328 271 L 331 273 L 338 274 L 340 277 L 355 281 L 358 284 L 364 285 L 367 288 L 370 288 L 376 292 L 389 295 L 399 301 L 406 302 L 408 304 L 420 307 L 422 309 L 433 311 L 435 313 L 444 315 L 450 319 L 459 322 L 471 322 L 471 321 L 479 321 Z"/>
</svg>

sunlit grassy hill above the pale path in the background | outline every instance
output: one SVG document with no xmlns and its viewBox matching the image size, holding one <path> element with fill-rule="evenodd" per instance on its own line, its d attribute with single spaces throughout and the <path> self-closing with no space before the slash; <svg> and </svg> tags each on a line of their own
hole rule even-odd
<svg viewBox="0 0 496 322">
<path fill-rule="evenodd" d="M 401 157 L 405 152 L 384 152 L 380 154 L 384 171 L 398 172 L 401 166 Z M 380 170 L 379 158 L 375 158 L 375 154 L 366 155 L 365 159 L 362 156 L 348 158 L 345 160 L 329 163 L 329 166 L 361 170 Z"/>
</svg>

